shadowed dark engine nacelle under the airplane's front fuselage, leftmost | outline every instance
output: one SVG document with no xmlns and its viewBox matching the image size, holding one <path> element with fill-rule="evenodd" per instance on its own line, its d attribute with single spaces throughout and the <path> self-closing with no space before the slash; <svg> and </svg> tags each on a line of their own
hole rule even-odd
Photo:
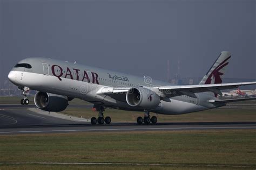
<svg viewBox="0 0 256 170">
<path fill-rule="evenodd" d="M 45 111 L 63 111 L 68 107 L 68 97 L 38 91 L 34 102 L 36 107 Z"/>
</svg>

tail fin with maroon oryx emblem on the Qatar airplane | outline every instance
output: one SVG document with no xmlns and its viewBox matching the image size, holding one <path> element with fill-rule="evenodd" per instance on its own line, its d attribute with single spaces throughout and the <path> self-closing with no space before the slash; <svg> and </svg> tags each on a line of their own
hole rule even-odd
<svg viewBox="0 0 256 170">
<path fill-rule="evenodd" d="M 223 51 L 218 59 L 213 63 L 206 75 L 199 84 L 220 84 L 222 83 L 222 76 L 225 73 L 228 60 L 231 58 L 231 52 Z"/>
</svg>

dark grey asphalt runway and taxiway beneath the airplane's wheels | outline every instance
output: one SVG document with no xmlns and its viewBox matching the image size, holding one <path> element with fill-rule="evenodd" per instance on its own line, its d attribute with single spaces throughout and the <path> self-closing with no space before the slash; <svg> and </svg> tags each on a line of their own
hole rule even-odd
<svg viewBox="0 0 256 170">
<path fill-rule="evenodd" d="M 66 119 L 37 114 L 27 110 L 34 105 L 1 104 L 0 135 L 28 133 L 70 133 L 104 131 L 173 131 L 173 130 L 214 130 L 214 129 L 256 129 L 256 122 L 192 122 L 137 123 L 113 122 L 109 125 L 91 125 Z M 254 121 L 254 120 L 252 120 Z"/>
</svg>

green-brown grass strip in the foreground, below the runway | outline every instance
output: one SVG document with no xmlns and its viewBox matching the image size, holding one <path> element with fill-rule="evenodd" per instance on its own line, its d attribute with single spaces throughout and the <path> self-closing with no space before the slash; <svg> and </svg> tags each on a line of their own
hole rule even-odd
<svg viewBox="0 0 256 170">
<path fill-rule="evenodd" d="M 255 132 L 256 130 L 211 130 L 9 135 L 0 136 L 0 160 L 199 165 L 189 167 L 190 169 L 205 169 L 207 165 L 248 165 L 255 168 Z M 5 166 L 12 168 L 17 165 Z M 67 168 L 65 165 L 48 166 Z M 84 166 L 77 166 L 79 167 Z M 91 166 L 93 167 L 95 166 Z M 125 169 L 134 166 L 122 167 Z"/>
</svg>

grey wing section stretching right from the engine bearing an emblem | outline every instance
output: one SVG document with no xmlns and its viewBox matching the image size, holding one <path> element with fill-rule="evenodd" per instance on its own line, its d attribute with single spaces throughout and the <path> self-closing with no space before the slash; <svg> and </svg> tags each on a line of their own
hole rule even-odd
<svg viewBox="0 0 256 170">
<path fill-rule="evenodd" d="M 256 84 L 254 82 L 240 82 L 240 83 L 222 83 L 222 84 L 198 84 L 198 85 L 186 85 L 186 86 L 160 86 L 159 91 L 166 96 L 179 96 L 187 95 L 190 97 L 196 97 L 194 93 L 211 91 L 215 94 L 222 95 L 220 90 L 238 88 L 239 86 L 246 86 Z"/>
</svg>

